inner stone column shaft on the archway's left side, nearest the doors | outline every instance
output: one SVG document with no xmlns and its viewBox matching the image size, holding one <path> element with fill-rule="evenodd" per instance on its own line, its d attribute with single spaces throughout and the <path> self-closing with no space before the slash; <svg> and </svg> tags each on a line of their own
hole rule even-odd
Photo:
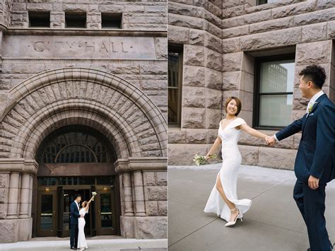
<svg viewBox="0 0 335 251">
<path fill-rule="evenodd" d="M 30 175 L 28 173 L 23 173 L 21 178 L 21 189 L 20 189 L 20 211 L 18 218 L 28 218 L 29 217 L 29 207 L 30 207 Z"/>
</svg>

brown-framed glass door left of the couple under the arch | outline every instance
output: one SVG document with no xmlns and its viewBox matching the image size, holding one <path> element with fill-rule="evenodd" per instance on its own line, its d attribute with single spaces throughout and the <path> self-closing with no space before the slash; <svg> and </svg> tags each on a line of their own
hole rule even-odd
<svg viewBox="0 0 335 251">
<path fill-rule="evenodd" d="M 57 192 L 39 192 L 37 205 L 37 236 L 56 236 Z"/>
</svg>

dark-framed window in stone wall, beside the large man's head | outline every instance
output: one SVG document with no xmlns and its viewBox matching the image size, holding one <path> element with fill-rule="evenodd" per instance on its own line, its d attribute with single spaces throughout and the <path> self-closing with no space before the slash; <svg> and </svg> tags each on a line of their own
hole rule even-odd
<svg viewBox="0 0 335 251">
<path fill-rule="evenodd" d="M 291 122 L 294 55 L 256 61 L 254 127 L 280 129 Z"/>
</svg>

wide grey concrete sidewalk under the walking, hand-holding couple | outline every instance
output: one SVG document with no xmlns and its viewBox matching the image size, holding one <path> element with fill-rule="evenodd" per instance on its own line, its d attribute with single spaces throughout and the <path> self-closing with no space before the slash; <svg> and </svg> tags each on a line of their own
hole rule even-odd
<svg viewBox="0 0 335 251">
<path fill-rule="evenodd" d="M 168 168 L 169 251 L 285 250 L 309 247 L 305 223 L 293 200 L 295 175 L 242 165 L 237 182 L 239 199 L 252 199 L 252 207 L 233 228 L 204 206 L 221 164 Z M 326 187 L 326 220 L 335 242 L 335 181 Z"/>
</svg>

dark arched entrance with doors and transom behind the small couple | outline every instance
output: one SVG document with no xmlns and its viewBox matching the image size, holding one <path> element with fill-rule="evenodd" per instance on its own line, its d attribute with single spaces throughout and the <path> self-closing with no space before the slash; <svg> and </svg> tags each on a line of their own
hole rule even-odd
<svg viewBox="0 0 335 251">
<path fill-rule="evenodd" d="M 98 192 L 86 216 L 86 236 L 120 234 L 119 182 L 112 144 L 97 130 L 71 125 L 49 134 L 37 150 L 37 197 L 33 201 L 36 236 L 70 235 L 69 206 L 75 194 L 82 201 Z"/>
</svg>

